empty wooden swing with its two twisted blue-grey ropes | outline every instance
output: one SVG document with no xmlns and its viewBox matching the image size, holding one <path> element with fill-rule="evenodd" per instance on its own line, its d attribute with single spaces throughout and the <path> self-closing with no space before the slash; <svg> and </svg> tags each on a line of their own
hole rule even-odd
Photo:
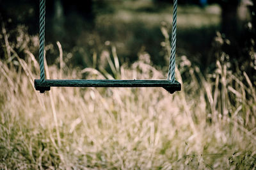
<svg viewBox="0 0 256 170">
<path fill-rule="evenodd" d="M 172 52 L 166 80 L 51 80 L 45 79 L 44 71 L 44 41 L 45 41 L 45 0 L 40 0 L 40 79 L 35 80 L 35 89 L 44 93 L 51 87 L 95 87 L 95 88 L 164 88 L 170 93 L 180 91 L 181 85 L 175 81 L 175 49 L 176 49 L 176 25 L 177 25 L 177 0 L 173 0 L 172 23 Z"/>
</svg>

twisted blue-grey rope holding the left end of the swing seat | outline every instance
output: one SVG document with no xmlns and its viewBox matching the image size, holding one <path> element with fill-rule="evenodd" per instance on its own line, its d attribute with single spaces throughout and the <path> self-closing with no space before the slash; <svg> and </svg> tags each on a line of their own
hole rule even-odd
<svg viewBox="0 0 256 170">
<path fill-rule="evenodd" d="M 44 73 L 44 40 L 45 40 L 45 0 L 40 0 L 40 26 L 39 26 L 39 63 L 40 63 L 40 81 L 45 81 Z"/>
</svg>

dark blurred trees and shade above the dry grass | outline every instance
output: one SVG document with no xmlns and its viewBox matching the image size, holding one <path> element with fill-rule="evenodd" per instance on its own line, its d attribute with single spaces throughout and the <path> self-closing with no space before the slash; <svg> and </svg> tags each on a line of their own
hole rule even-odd
<svg viewBox="0 0 256 170">
<path fill-rule="evenodd" d="M 29 35 L 38 35 L 38 1 L 0 2 L 1 20 L 8 31 L 19 26 Z M 253 76 L 255 68 L 248 67 L 255 62 L 248 52 L 255 49 L 252 1 L 180 0 L 178 3 L 178 62 L 179 56 L 184 55 L 202 71 L 214 69 L 216 52 L 223 50 L 230 56 L 233 68 L 247 69 Z M 91 67 L 93 53 L 100 54 L 109 45 L 115 45 L 121 63 L 132 63 L 139 53 L 147 51 L 154 65 L 162 67 L 168 63 L 168 56 L 163 52 L 161 27 L 166 27 L 171 35 L 171 23 L 172 1 L 47 1 L 46 45 L 58 49 L 59 41 L 64 57 L 72 58 L 69 66 Z M 57 52 L 49 51 L 50 64 L 54 63 Z"/>
</svg>

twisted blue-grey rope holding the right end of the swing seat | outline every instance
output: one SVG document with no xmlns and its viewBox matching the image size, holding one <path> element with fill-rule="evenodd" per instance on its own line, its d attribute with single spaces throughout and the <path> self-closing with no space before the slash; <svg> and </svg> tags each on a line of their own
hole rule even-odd
<svg viewBox="0 0 256 170">
<path fill-rule="evenodd" d="M 171 82 L 175 82 L 175 52 L 176 52 L 176 30 L 177 30 L 177 0 L 173 0 L 173 22 L 172 22 L 172 51 L 170 54 L 170 63 L 168 69 L 168 78 Z"/>
</svg>

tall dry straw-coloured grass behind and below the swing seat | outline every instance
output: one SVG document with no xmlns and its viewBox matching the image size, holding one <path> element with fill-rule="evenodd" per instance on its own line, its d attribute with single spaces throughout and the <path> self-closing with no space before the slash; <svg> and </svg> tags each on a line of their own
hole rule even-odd
<svg viewBox="0 0 256 170">
<path fill-rule="evenodd" d="M 40 94 L 33 88 L 39 69 L 29 48 L 21 59 L 11 44 L 6 58 L 12 59 L 0 61 L 1 169 L 256 168 L 255 82 L 245 72 L 230 72 L 225 59 L 202 75 L 182 56 L 177 79 L 189 79 L 174 95 L 159 88 L 52 88 Z M 113 73 L 70 70 L 61 54 L 63 70 L 57 63 L 46 66 L 47 77 L 166 77 L 146 53 L 128 68 L 119 66 L 115 47 L 110 52 L 113 62 L 108 51 L 101 58 Z"/>
</svg>

